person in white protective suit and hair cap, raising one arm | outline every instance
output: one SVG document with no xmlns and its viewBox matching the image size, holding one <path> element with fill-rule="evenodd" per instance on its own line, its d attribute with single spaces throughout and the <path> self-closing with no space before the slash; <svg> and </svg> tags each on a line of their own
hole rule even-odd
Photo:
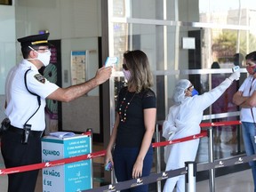
<svg viewBox="0 0 256 192">
<path fill-rule="evenodd" d="M 200 123 L 204 109 L 210 107 L 215 100 L 218 100 L 221 94 L 239 77 L 240 70 L 237 70 L 210 92 L 204 92 L 202 95 L 193 97 L 193 84 L 187 79 L 179 80 L 172 95 L 174 105 L 169 109 L 169 114 L 163 124 L 164 138 L 166 140 L 177 140 L 200 133 Z M 196 139 L 164 147 L 165 171 L 179 169 L 185 166 L 185 162 L 195 161 L 198 145 L 199 139 Z M 164 192 L 172 192 L 176 184 L 177 192 L 184 192 L 185 175 L 166 180 Z"/>
</svg>

